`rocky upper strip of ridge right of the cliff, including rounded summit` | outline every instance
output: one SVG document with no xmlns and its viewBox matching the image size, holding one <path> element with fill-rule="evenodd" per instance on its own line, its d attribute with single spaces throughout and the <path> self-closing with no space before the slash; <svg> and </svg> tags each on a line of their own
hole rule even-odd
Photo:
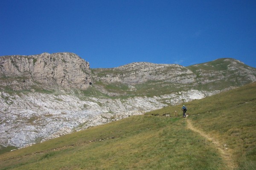
<svg viewBox="0 0 256 170">
<path fill-rule="evenodd" d="M 244 77 L 245 76 L 245 77 Z M 245 82 L 256 79 L 255 68 L 231 58 L 217 59 L 212 62 L 183 67 L 177 64 L 153 64 L 148 62 L 134 62 L 117 68 L 93 69 L 93 81 L 107 83 L 122 82 L 136 85 L 148 81 L 165 81 L 179 84 L 207 84 L 217 80 L 232 80 L 241 77 Z"/>
</svg>

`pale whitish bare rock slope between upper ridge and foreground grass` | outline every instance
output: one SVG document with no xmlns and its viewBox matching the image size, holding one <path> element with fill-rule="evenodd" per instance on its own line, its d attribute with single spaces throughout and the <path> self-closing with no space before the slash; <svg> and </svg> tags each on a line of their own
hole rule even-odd
<svg viewBox="0 0 256 170">
<path fill-rule="evenodd" d="M 128 99 L 90 97 L 81 100 L 72 95 L 29 93 L 0 96 L 0 144 L 26 147 L 88 127 L 143 114 L 169 104 L 201 99 L 218 91 L 192 90 Z"/>
</svg>

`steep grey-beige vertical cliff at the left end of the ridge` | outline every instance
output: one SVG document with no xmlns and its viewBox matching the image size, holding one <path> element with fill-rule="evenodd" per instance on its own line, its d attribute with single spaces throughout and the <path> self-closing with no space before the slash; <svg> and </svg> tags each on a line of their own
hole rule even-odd
<svg viewBox="0 0 256 170">
<path fill-rule="evenodd" d="M 91 82 L 89 62 L 73 53 L 3 56 L 0 57 L 0 75 L 9 78 L 1 80 L 1 85 L 14 90 L 32 85 L 86 89 Z"/>
</svg>

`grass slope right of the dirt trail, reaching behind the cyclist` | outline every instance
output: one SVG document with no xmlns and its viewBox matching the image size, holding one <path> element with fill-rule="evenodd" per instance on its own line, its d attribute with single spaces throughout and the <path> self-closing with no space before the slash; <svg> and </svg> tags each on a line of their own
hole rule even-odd
<svg viewBox="0 0 256 170">
<path fill-rule="evenodd" d="M 185 104 L 195 128 L 209 134 L 229 153 L 235 169 L 256 169 L 256 82 Z M 149 115 L 163 115 L 181 105 L 152 111 Z"/>
</svg>

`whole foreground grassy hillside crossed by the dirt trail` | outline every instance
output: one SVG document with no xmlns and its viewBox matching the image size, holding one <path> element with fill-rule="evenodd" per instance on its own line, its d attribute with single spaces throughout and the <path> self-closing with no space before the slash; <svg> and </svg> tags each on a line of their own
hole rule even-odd
<svg viewBox="0 0 256 170">
<path fill-rule="evenodd" d="M 255 94 L 252 83 L 185 103 L 186 119 L 173 106 L 2 153 L 0 170 L 254 170 Z"/>
</svg>

